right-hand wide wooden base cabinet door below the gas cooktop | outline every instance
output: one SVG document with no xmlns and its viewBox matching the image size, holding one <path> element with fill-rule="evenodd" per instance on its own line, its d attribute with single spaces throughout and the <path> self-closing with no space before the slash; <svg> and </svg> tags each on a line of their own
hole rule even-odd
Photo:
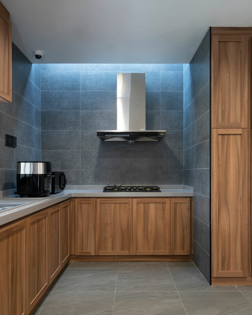
<svg viewBox="0 0 252 315">
<path fill-rule="evenodd" d="M 133 199 L 133 255 L 170 254 L 170 200 Z"/>
</svg>

